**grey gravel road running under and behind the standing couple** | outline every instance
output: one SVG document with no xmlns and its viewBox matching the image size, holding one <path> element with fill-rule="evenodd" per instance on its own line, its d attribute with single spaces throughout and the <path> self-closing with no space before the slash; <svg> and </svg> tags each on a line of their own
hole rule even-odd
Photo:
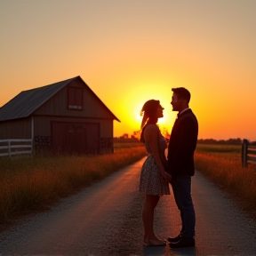
<svg viewBox="0 0 256 256">
<path fill-rule="evenodd" d="M 143 161 L 0 233 L 0 255 L 256 255 L 256 223 L 200 172 L 192 180 L 196 247 L 144 248 L 144 196 L 138 192 Z M 179 233 L 173 196 L 160 199 L 155 224 L 160 237 Z"/>
</svg>

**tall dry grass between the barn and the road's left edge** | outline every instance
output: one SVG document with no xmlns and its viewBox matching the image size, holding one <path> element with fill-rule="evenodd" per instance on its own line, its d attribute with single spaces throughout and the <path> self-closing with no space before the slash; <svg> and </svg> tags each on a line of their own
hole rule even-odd
<svg viewBox="0 0 256 256">
<path fill-rule="evenodd" d="M 132 145 L 131 145 L 132 147 Z M 140 147 L 115 149 L 102 156 L 40 156 L 0 158 L 0 224 L 47 209 L 112 172 L 146 156 Z"/>
</svg>

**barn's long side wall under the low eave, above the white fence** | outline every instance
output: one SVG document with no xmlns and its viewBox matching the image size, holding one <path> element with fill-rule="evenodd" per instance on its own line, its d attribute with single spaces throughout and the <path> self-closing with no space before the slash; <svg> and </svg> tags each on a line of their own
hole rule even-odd
<svg viewBox="0 0 256 256">
<path fill-rule="evenodd" d="M 0 140 L 31 139 L 31 118 L 0 123 Z"/>
</svg>

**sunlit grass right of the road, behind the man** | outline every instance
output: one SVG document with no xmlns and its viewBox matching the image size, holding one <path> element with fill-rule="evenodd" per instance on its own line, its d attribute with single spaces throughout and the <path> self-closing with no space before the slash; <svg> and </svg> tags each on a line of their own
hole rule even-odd
<svg viewBox="0 0 256 256">
<path fill-rule="evenodd" d="M 241 146 L 199 144 L 195 164 L 256 220 L 256 164 L 242 167 Z"/>
</svg>

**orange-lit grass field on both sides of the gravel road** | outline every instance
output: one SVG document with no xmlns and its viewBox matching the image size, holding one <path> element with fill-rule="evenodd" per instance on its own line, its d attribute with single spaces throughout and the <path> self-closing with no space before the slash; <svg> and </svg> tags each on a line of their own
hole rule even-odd
<svg viewBox="0 0 256 256">
<path fill-rule="evenodd" d="M 116 143 L 105 156 L 0 158 L 0 224 L 55 204 L 146 156 L 143 144 Z M 256 220 L 256 164 L 242 167 L 241 146 L 197 145 L 196 170 Z"/>
</svg>

